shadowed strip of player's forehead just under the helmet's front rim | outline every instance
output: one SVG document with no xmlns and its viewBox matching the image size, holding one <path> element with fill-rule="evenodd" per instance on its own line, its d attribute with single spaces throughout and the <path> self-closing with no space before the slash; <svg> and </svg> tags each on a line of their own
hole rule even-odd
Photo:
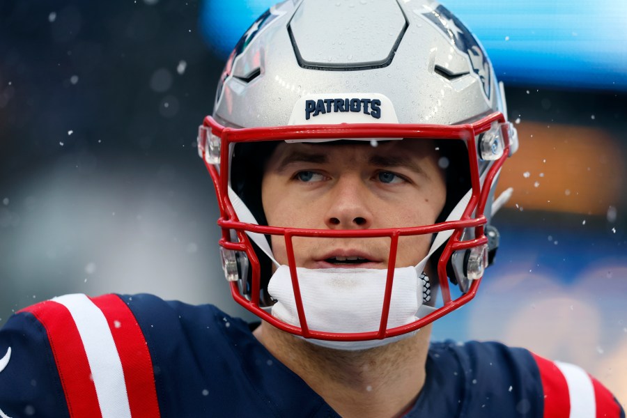
<svg viewBox="0 0 627 418">
<path fill-rule="evenodd" d="M 330 141 L 322 143 L 281 142 L 270 156 L 267 169 L 284 167 L 291 162 L 350 165 L 373 163 L 393 165 L 408 161 L 435 160 L 438 146 L 430 139 L 392 141 Z"/>
</svg>

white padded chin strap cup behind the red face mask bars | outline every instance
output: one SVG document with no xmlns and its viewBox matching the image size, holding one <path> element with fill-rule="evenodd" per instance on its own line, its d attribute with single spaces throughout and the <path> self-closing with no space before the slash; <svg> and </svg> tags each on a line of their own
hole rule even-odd
<svg viewBox="0 0 627 418">
<path fill-rule="evenodd" d="M 309 330 L 322 332 L 378 331 L 387 270 L 366 268 L 297 268 L 298 286 Z M 300 326 L 288 266 L 272 275 L 268 293 L 277 300 L 272 316 Z M 414 267 L 394 269 L 387 328 L 417 320 L 422 281 Z"/>
</svg>

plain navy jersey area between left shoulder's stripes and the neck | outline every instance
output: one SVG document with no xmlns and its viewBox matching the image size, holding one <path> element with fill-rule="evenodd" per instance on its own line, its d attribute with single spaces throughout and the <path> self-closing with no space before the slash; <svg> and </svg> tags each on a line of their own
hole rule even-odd
<svg viewBox="0 0 627 418">
<path fill-rule="evenodd" d="M 211 305 L 123 296 L 144 330 L 163 416 L 336 417 L 257 341 L 249 324 Z M 176 384 L 175 384 L 176 382 Z"/>
</svg>

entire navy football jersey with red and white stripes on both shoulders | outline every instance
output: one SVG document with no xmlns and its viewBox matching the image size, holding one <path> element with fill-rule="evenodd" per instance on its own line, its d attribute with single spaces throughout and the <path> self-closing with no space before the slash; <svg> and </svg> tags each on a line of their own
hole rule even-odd
<svg viewBox="0 0 627 418">
<path fill-rule="evenodd" d="M 500 343 L 432 343 L 406 417 L 624 417 L 576 366 Z M 0 330 L 0 417 L 338 417 L 212 305 L 66 295 Z"/>
</svg>

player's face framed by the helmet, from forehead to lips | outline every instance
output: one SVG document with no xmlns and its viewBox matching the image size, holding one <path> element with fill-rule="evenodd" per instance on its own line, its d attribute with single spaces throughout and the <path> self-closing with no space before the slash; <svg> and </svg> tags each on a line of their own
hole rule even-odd
<svg viewBox="0 0 627 418">
<path fill-rule="evenodd" d="M 281 143 L 262 180 L 268 225 L 307 229 L 383 229 L 435 223 L 446 199 L 433 141 Z M 387 268 L 389 238 L 293 238 L 305 268 Z M 431 235 L 401 237 L 396 267 L 426 256 Z M 288 264 L 284 237 L 272 252 Z"/>
</svg>

